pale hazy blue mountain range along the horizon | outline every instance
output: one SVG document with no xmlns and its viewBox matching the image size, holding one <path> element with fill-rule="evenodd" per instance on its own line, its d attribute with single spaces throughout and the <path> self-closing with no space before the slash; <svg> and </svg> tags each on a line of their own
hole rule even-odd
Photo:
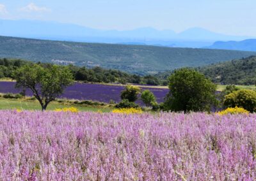
<svg viewBox="0 0 256 181">
<path fill-rule="evenodd" d="M 175 33 L 143 27 L 131 31 L 103 31 L 74 24 L 38 20 L 0 20 L 0 35 L 43 40 L 65 40 L 91 43 L 124 43 L 165 47 L 209 47 L 214 41 L 241 41 L 248 36 L 228 36 L 194 27 Z"/>
</svg>

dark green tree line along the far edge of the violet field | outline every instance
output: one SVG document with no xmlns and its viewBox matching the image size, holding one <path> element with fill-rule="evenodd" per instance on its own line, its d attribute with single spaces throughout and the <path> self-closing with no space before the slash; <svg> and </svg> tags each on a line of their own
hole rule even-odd
<svg viewBox="0 0 256 181">
<path fill-rule="evenodd" d="M 24 65 L 34 64 L 33 62 L 21 61 L 19 59 L 0 59 L 0 78 L 13 78 L 13 72 Z M 49 66 L 47 63 L 38 62 L 43 67 Z M 155 76 L 131 75 L 115 69 L 103 69 L 100 67 L 86 68 L 68 65 L 74 79 L 83 82 L 104 82 L 104 83 L 146 83 L 148 85 L 158 85 L 160 81 Z"/>
</svg>

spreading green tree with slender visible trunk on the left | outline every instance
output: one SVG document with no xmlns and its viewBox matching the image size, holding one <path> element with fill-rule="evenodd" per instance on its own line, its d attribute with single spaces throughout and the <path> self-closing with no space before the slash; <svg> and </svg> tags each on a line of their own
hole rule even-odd
<svg viewBox="0 0 256 181">
<path fill-rule="evenodd" d="M 72 73 L 67 67 L 56 65 L 47 68 L 38 64 L 22 66 L 15 71 L 14 77 L 17 81 L 16 87 L 31 89 L 43 111 L 74 82 Z"/>
</svg>

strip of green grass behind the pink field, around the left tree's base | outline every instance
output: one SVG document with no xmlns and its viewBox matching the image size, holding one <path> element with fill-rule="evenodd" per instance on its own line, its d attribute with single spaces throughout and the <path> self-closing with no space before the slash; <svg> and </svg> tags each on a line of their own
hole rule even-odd
<svg viewBox="0 0 256 181">
<path fill-rule="evenodd" d="M 111 108 L 108 107 L 90 107 L 90 106 L 76 106 L 71 104 L 62 104 L 57 102 L 52 102 L 47 106 L 47 110 L 55 110 L 56 108 L 67 108 L 75 107 L 80 112 L 111 112 Z M 0 99 L 0 110 L 41 110 L 41 106 L 38 101 L 26 101 L 24 99 Z"/>
</svg>

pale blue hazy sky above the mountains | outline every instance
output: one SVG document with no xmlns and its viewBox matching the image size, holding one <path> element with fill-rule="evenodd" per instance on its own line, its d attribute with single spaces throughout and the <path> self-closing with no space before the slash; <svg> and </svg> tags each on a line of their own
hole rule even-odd
<svg viewBox="0 0 256 181">
<path fill-rule="evenodd" d="M 97 29 L 183 31 L 203 27 L 256 36 L 255 0 L 0 0 L 0 18 L 52 20 Z"/>
</svg>

